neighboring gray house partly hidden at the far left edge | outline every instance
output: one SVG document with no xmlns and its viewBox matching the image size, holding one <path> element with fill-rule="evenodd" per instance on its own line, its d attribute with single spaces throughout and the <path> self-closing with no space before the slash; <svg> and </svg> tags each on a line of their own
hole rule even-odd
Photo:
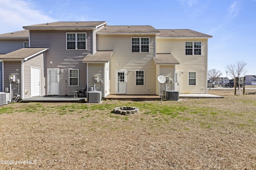
<svg viewBox="0 0 256 170">
<path fill-rule="evenodd" d="M 28 47 L 28 30 L 16 31 L 0 34 L 0 56 L 12 51 Z M 2 60 L 0 59 L 0 92 L 3 92 L 2 86 Z"/>
</svg>

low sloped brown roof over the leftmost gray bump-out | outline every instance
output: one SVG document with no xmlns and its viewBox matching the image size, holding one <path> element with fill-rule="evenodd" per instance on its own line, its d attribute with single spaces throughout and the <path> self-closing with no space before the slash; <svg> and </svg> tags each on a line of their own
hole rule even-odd
<svg viewBox="0 0 256 170">
<path fill-rule="evenodd" d="M 34 57 L 35 55 L 38 55 L 49 48 L 22 48 L 18 49 L 16 51 L 12 51 L 7 54 L 0 55 L 0 60 L 3 61 L 22 61 L 22 60 L 28 60 L 31 57 Z"/>
</svg>

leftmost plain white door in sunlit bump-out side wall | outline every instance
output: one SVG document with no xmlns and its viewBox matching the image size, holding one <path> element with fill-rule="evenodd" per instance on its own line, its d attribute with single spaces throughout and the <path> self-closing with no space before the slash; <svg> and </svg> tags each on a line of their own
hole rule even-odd
<svg viewBox="0 0 256 170">
<path fill-rule="evenodd" d="M 31 97 L 40 96 L 40 68 L 31 67 Z"/>
</svg>

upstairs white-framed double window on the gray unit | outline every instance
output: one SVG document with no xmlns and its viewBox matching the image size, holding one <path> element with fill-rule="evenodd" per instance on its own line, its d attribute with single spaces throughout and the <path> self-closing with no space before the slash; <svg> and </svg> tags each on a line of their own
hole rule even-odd
<svg viewBox="0 0 256 170">
<path fill-rule="evenodd" d="M 86 33 L 66 33 L 66 49 L 86 49 Z"/>
</svg>

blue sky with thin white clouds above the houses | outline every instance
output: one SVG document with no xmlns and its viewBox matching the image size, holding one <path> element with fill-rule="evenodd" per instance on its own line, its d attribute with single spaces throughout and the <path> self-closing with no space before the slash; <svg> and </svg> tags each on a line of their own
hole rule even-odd
<svg viewBox="0 0 256 170">
<path fill-rule="evenodd" d="M 244 61 L 256 75 L 256 0 L 0 0 L 0 34 L 56 21 L 192 29 L 208 39 L 208 70 Z M 231 76 L 228 76 L 231 78 Z"/>
</svg>

